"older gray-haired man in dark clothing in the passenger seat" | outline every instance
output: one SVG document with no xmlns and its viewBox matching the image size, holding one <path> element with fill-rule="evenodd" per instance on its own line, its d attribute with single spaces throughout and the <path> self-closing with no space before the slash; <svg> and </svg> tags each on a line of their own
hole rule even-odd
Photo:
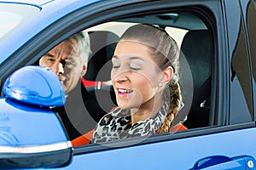
<svg viewBox="0 0 256 170">
<path fill-rule="evenodd" d="M 55 108 L 61 116 L 71 140 L 94 129 L 96 122 L 108 111 L 103 111 L 96 98 L 88 94 L 81 83 L 90 55 L 90 37 L 79 32 L 52 48 L 39 60 L 39 65 L 49 67 L 58 75 L 67 101 Z"/>
</svg>

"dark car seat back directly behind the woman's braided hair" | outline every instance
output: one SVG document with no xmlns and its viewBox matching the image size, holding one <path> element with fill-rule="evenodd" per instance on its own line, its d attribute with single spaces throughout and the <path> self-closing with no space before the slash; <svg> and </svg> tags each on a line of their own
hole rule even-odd
<svg viewBox="0 0 256 170">
<path fill-rule="evenodd" d="M 188 31 L 183 37 L 180 53 L 180 83 L 184 107 L 177 114 L 174 124 L 183 122 L 184 117 L 188 115 L 187 120 L 183 122 L 183 125 L 188 128 L 209 125 L 211 56 L 209 31 Z M 188 65 L 189 69 L 184 69 L 188 68 Z"/>
</svg>

